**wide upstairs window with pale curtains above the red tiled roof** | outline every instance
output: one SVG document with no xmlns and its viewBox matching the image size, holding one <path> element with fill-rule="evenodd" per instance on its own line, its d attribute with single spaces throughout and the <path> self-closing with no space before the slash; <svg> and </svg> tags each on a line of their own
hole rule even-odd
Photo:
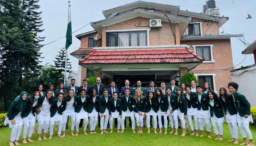
<svg viewBox="0 0 256 146">
<path fill-rule="evenodd" d="M 147 31 L 108 32 L 107 47 L 146 46 Z"/>
</svg>

